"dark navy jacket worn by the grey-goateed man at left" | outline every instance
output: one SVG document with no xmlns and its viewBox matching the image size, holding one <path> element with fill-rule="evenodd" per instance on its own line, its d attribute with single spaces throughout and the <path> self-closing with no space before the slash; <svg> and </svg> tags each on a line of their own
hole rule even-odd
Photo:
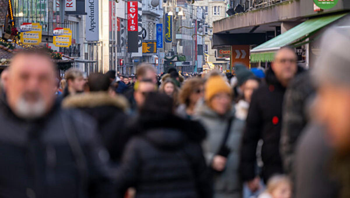
<svg viewBox="0 0 350 198">
<path fill-rule="evenodd" d="M 90 116 L 56 104 L 44 118 L 22 120 L 2 98 L 0 125 L 0 197 L 112 196 Z"/>
</svg>

